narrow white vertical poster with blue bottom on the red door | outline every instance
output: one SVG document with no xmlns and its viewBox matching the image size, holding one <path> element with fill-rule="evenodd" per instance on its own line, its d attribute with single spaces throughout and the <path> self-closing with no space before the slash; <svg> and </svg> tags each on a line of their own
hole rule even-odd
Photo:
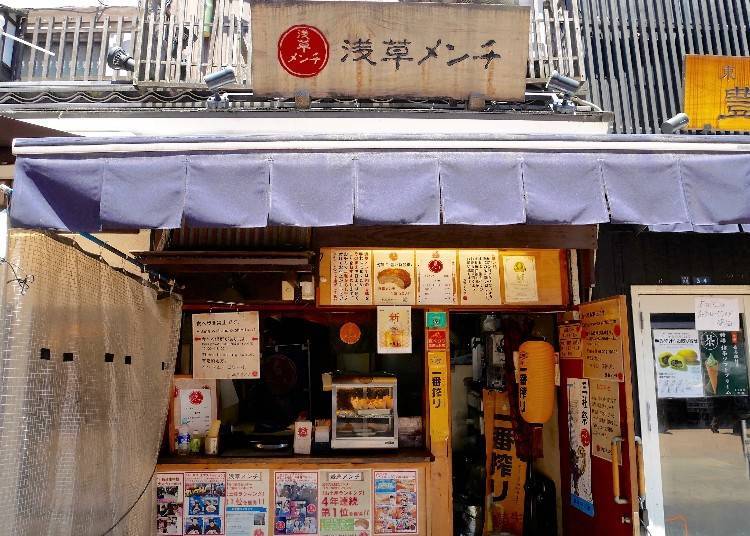
<svg viewBox="0 0 750 536">
<path fill-rule="evenodd" d="M 570 440 L 570 502 L 594 516 L 591 492 L 591 409 L 589 381 L 568 378 L 568 434 Z"/>
</svg>

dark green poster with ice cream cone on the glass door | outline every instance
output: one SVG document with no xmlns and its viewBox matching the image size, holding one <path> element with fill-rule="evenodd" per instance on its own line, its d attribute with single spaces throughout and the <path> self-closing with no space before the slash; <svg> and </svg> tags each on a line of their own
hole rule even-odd
<svg viewBox="0 0 750 536">
<path fill-rule="evenodd" d="M 699 331 L 704 396 L 747 396 L 747 347 L 741 331 Z"/>
</svg>

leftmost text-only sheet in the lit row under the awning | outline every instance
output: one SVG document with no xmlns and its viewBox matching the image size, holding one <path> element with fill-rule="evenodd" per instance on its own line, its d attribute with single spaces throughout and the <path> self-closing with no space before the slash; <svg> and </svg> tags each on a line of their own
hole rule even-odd
<svg viewBox="0 0 750 536">
<path fill-rule="evenodd" d="M 372 252 L 331 250 L 331 304 L 372 304 Z"/>
</svg>

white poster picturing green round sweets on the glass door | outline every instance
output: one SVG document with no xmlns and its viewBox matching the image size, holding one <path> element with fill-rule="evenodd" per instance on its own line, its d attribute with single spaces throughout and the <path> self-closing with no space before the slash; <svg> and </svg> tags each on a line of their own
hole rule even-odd
<svg viewBox="0 0 750 536">
<path fill-rule="evenodd" d="M 652 331 L 656 359 L 656 396 L 700 398 L 703 394 L 698 331 L 655 329 Z"/>
</svg>

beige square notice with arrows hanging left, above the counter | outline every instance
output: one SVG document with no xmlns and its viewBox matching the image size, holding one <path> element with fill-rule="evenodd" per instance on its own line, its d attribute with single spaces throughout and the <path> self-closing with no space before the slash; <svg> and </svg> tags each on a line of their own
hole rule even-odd
<svg viewBox="0 0 750 536">
<path fill-rule="evenodd" d="M 259 377 L 257 311 L 193 315 L 193 378 Z"/>
</svg>

